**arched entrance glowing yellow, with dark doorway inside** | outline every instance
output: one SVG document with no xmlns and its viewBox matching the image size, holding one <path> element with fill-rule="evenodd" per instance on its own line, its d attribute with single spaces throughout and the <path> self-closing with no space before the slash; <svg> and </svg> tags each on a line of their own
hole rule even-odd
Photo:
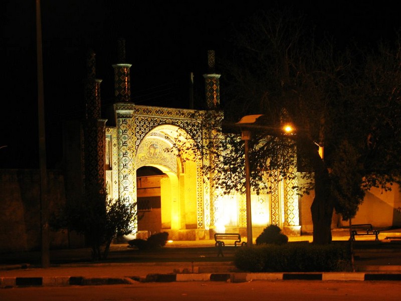
<svg viewBox="0 0 401 301">
<path fill-rule="evenodd" d="M 137 176 L 139 236 L 166 231 L 172 239 L 195 239 L 199 157 L 189 143 L 189 135 L 170 124 L 154 127 L 139 143 L 137 170 L 152 167 L 159 171 L 158 175 Z M 146 208 L 151 202 L 158 205 L 158 194 L 159 214 Z"/>
</svg>

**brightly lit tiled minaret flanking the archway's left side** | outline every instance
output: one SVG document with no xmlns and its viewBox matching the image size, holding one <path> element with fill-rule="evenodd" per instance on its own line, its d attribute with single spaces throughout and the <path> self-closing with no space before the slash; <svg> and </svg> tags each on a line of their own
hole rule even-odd
<svg viewBox="0 0 401 301">
<path fill-rule="evenodd" d="M 131 101 L 129 68 L 125 63 L 125 41 L 118 41 L 118 64 L 114 68 L 114 111 L 118 144 L 118 196 L 128 203 L 136 202 L 135 123 L 134 104 Z M 135 217 L 134 232 L 137 230 Z"/>
</svg>

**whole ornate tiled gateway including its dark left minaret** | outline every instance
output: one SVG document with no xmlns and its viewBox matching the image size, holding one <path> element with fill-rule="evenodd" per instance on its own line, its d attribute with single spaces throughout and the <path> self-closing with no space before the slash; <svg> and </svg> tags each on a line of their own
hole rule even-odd
<svg viewBox="0 0 401 301">
<path fill-rule="evenodd" d="M 94 78 L 94 55 L 88 60 L 91 72 L 84 135 L 84 145 L 89 147 L 85 156 L 86 177 L 104 185 L 109 198 L 137 204 L 133 224 L 138 237 L 162 231 L 175 240 L 210 239 L 222 231 L 246 236 L 245 197 L 221 194 L 213 177 L 203 171 L 203 166 L 212 161 L 210 155 L 188 150 L 192 143 L 208 143 L 211 133 L 203 126 L 208 122 L 208 112 L 222 118 L 220 74 L 214 72 L 214 53 L 209 52 L 210 73 L 204 75 L 208 110 L 149 107 L 130 100 L 131 65 L 125 63 L 124 42 L 119 45 L 120 63 L 113 65 L 115 120 L 110 120 L 115 126 L 99 119 L 100 80 Z M 96 139 L 91 135 L 96 135 Z M 99 166 L 104 166 L 104 170 L 99 170 Z M 155 168 L 159 173 L 137 177 L 137 171 L 144 167 Z M 294 184 L 281 181 L 269 194 L 252 195 L 256 235 L 272 223 L 300 234 Z"/>
</svg>

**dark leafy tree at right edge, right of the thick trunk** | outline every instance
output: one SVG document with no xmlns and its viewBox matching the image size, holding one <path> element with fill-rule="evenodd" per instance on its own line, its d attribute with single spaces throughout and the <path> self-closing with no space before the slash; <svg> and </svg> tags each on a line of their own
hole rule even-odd
<svg viewBox="0 0 401 301">
<path fill-rule="evenodd" d="M 332 160 L 336 185 L 336 210 L 343 220 L 357 212 L 365 191 L 372 187 L 390 190 L 399 183 L 401 120 L 401 47 L 379 42 L 359 52 L 352 73 L 341 93 L 336 119 L 341 127 L 333 139 L 337 145 Z"/>
</svg>

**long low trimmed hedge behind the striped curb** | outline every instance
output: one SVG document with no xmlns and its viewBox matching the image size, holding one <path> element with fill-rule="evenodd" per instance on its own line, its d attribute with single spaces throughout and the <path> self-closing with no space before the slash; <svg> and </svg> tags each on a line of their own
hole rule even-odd
<svg viewBox="0 0 401 301">
<path fill-rule="evenodd" d="M 349 258 L 339 244 L 288 243 L 239 248 L 234 263 L 251 272 L 318 272 L 344 270 Z"/>
</svg>

